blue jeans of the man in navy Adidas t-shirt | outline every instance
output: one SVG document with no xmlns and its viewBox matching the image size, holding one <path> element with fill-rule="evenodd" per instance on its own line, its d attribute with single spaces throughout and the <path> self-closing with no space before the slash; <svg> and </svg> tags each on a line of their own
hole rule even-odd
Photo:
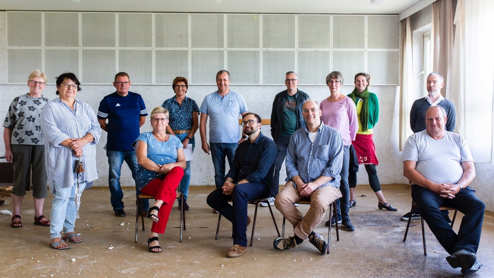
<svg viewBox="0 0 494 278">
<path fill-rule="evenodd" d="M 135 151 L 106 151 L 106 156 L 108 157 L 108 185 L 110 187 L 110 202 L 112 203 L 113 210 L 124 208 L 124 192 L 122 192 L 122 187 L 120 186 L 120 170 L 122 169 L 122 164 L 127 162 L 128 168 L 132 172 L 132 178 L 135 182 L 135 175 L 137 173 L 137 159 L 135 158 Z M 134 183 L 135 184 L 135 183 Z M 137 201 L 137 196 L 141 192 L 135 188 L 135 196 Z M 149 209 L 149 200 L 143 199 L 142 205 L 144 210 Z"/>
</svg>

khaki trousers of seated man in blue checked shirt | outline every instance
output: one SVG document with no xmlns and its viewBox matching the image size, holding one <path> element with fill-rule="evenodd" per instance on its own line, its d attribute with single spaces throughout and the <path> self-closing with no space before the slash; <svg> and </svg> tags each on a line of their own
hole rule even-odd
<svg viewBox="0 0 494 278">
<path fill-rule="evenodd" d="M 288 181 L 283 190 L 276 195 L 275 206 L 293 225 L 293 233 L 305 239 L 321 223 L 329 204 L 340 197 L 339 189 L 332 186 L 325 186 L 314 191 L 310 198 L 303 197 L 293 187 L 293 183 Z M 310 207 L 304 216 L 293 204 L 307 199 L 310 199 Z"/>
</svg>

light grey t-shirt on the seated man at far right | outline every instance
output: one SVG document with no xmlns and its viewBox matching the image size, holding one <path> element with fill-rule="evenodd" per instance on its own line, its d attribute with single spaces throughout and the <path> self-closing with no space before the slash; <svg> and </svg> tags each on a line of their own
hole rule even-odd
<svg viewBox="0 0 494 278">
<path fill-rule="evenodd" d="M 463 175 L 461 162 L 472 161 L 472 154 L 461 135 L 446 131 L 440 140 L 423 130 L 412 134 L 405 143 L 403 161 L 417 161 L 415 169 L 436 183 L 456 184 Z"/>
</svg>

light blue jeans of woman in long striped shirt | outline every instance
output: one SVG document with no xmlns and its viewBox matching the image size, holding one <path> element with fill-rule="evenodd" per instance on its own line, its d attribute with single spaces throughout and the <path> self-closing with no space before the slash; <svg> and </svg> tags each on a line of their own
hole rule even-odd
<svg viewBox="0 0 494 278">
<path fill-rule="evenodd" d="M 79 183 L 79 197 L 76 205 L 77 182 L 74 186 L 67 188 L 63 188 L 53 182 L 55 193 L 50 211 L 50 239 L 61 238 L 60 231 L 62 230 L 63 233 L 74 232 L 77 210 L 81 204 L 81 195 L 85 186 L 85 181 Z"/>
</svg>

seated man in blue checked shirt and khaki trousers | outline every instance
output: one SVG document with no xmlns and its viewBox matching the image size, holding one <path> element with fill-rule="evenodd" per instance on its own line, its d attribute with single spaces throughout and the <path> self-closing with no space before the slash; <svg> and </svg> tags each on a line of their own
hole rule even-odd
<svg viewBox="0 0 494 278">
<path fill-rule="evenodd" d="M 297 247 L 304 239 L 323 254 L 328 242 L 314 232 L 323 220 L 329 204 L 341 197 L 340 171 L 343 163 L 343 140 L 338 130 L 321 121 L 319 103 L 308 99 L 302 106 L 306 126 L 290 137 L 287 149 L 287 183 L 275 199 L 276 208 L 293 225 L 294 235 L 276 238 L 276 250 Z M 303 215 L 293 204 L 310 200 Z"/>
</svg>

